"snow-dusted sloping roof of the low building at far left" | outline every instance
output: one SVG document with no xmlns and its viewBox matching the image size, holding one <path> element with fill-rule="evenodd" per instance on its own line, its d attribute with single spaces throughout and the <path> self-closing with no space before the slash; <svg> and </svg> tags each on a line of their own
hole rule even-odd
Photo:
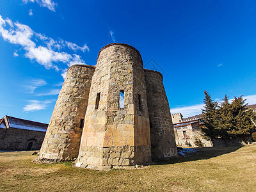
<svg viewBox="0 0 256 192">
<path fill-rule="evenodd" d="M 0 125 L 4 124 L 5 129 L 14 128 L 14 129 L 26 129 L 31 131 L 40 131 L 40 132 L 46 132 L 48 124 L 43 124 L 39 122 L 33 122 L 30 120 L 24 120 L 21 118 L 15 118 L 13 116 L 4 116 L 0 120 Z M 1 126 L 0 128 L 3 128 Z"/>
</svg>

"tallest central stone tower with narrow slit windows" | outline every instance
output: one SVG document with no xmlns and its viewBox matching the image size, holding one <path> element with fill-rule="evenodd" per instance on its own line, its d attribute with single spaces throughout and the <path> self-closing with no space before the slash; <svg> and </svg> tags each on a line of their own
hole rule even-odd
<svg viewBox="0 0 256 192">
<path fill-rule="evenodd" d="M 109 44 L 98 56 L 76 166 L 109 168 L 151 161 L 140 52 Z"/>
</svg>

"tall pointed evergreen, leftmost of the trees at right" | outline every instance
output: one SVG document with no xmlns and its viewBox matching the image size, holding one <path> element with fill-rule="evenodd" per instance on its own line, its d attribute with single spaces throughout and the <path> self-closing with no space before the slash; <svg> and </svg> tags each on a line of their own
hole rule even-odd
<svg viewBox="0 0 256 192">
<path fill-rule="evenodd" d="M 207 91 L 205 91 L 204 94 L 205 109 L 202 109 L 204 125 L 200 127 L 200 130 L 204 136 L 216 138 L 219 135 L 219 131 L 216 129 L 216 127 L 218 127 L 218 122 L 216 121 L 218 116 L 218 102 L 214 102 Z"/>
</svg>

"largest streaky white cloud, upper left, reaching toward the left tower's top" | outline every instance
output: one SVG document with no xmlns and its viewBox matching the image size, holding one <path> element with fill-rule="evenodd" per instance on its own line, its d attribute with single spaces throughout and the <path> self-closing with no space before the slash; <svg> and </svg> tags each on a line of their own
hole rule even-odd
<svg viewBox="0 0 256 192">
<path fill-rule="evenodd" d="M 4 40 L 11 44 L 21 45 L 26 52 L 26 58 L 35 60 L 45 68 L 56 68 L 59 70 L 58 63 L 66 63 L 68 67 L 74 64 L 83 64 L 84 60 L 78 54 L 69 54 L 61 49 L 70 49 L 72 51 L 89 51 L 89 47 L 84 45 L 80 47 L 72 42 L 65 40 L 56 41 L 40 33 L 35 33 L 29 26 L 12 22 L 10 19 L 3 19 L 0 15 L 0 35 Z"/>
</svg>

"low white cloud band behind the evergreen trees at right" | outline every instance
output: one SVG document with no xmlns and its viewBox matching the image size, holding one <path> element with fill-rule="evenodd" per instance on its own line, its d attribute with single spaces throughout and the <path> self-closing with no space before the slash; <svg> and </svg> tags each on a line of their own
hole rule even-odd
<svg viewBox="0 0 256 192">
<path fill-rule="evenodd" d="M 240 95 L 239 95 L 240 96 Z M 247 95 L 243 96 L 243 99 L 246 99 L 246 103 L 249 105 L 256 104 L 256 95 Z M 229 100 L 231 102 L 232 99 Z M 221 103 L 223 101 L 220 101 Z M 194 116 L 194 115 L 199 115 L 202 113 L 202 110 L 204 108 L 204 104 L 196 104 L 193 106 L 184 106 L 181 108 L 171 108 L 171 113 L 181 113 L 184 118 L 189 117 L 189 116 Z"/>
</svg>

